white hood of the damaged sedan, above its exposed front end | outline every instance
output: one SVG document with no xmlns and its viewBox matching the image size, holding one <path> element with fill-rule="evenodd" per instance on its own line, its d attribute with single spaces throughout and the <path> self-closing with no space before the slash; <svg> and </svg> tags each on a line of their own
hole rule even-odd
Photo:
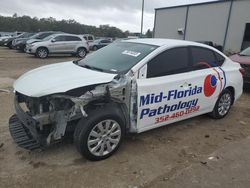
<svg viewBox="0 0 250 188">
<path fill-rule="evenodd" d="M 116 74 L 80 67 L 73 62 L 43 66 L 23 74 L 14 83 L 14 90 L 30 97 L 62 93 L 93 84 L 108 83 Z"/>
</svg>

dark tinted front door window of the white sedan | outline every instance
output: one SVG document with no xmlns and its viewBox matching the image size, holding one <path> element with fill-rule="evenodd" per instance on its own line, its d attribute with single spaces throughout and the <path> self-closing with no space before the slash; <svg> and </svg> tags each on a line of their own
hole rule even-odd
<svg viewBox="0 0 250 188">
<path fill-rule="evenodd" d="M 147 78 L 177 74 L 188 70 L 188 48 L 173 48 L 162 52 L 148 62 Z"/>
</svg>

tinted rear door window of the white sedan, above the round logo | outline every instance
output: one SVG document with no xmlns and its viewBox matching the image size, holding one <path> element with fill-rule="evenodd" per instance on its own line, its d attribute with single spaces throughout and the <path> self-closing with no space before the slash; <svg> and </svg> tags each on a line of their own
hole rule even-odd
<svg viewBox="0 0 250 188">
<path fill-rule="evenodd" d="M 212 50 L 201 47 L 191 47 L 191 57 L 194 70 L 217 66 L 215 55 Z"/>
</svg>

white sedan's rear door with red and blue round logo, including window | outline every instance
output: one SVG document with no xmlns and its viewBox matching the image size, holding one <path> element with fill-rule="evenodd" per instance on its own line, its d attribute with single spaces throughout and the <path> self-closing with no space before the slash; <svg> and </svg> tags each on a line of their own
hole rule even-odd
<svg viewBox="0 0 250 188">
<path fill-rule="evenodd" d="M 220 67 L 224 57 L 203 47 L 190 47 L 192 73 L 196 84 L 202 86 L 200 111 L 211 112 L 225 86 L 225 75 Z"/>
</svg>

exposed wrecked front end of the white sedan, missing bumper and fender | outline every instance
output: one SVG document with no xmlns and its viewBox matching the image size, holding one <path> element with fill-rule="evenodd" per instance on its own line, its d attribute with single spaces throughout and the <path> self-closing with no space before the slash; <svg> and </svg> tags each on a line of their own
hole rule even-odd
<svg viewBox="0 0 250 188">
<path fill-rule="evenodd" d="M 86 86 L 78 96 L 66 92 L 33 98 L 16 91 L 16 114 L 9 119 L 11 136 L 22 148 L 44 148 L 61 140 L 68 130 L 74 131 L 76 122 L 88 116 L 88 108 L 106 103 L 120 104 L 129 125 L 135 120 L 129 114 L 131 96 L 135 96 L 132 85 L 131 77 L 118 75 L 110 83 Z"/>
</svg>

